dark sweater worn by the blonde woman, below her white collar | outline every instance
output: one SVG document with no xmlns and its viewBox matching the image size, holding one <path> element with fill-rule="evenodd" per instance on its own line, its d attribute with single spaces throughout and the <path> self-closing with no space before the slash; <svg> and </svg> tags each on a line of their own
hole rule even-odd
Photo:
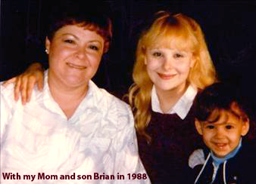
<svg viewBox="0 0 256 184">
<path fill-rule="evenodd" d="M 188 183 L 189 155 L 203 145 L 194 118 L 193 106 L 185 119 L 176 114 L 151 112 L 146 128 L 151 144 L 137 136 L 139 155 L 152 183 Z"/>
</svg>

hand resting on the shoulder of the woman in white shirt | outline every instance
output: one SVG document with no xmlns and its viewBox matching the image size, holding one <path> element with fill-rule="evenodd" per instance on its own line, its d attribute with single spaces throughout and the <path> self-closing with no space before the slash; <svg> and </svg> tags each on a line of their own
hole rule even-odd
<svg viewBox="0 0 256 184">
<path fill-rule="evenodd" d="M 33 63 L 20 75 L 3 83 L 4 86 L 15 83 L 14 100 L 19 100 L 21 95 L 22 104 L 30 102 L 33 87 L 37 84 L 39 90 L 43 88 L 44 69 L 40 63 Z"/>
</svg>

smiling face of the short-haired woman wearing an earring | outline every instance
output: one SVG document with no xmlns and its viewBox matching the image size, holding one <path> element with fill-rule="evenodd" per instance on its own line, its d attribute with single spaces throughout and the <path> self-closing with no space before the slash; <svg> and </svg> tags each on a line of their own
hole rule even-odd
<svg viewBox="0 0 256 184">
<path fill-rule="evenodd" d="M 46 38 L 49 80 L 67 87 L 87 86 L 97 72 L 104 48 L 104 38 L 77 25 L 58 29 L 52 41 Z"/>
</svg>

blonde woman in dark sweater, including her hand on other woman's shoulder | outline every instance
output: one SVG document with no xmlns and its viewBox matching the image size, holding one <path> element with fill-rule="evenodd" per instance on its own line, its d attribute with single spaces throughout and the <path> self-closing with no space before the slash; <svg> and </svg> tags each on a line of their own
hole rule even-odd
<svg viewBox="0 0 256 184">
<path fill-rule="evenodd" d="M 32 81 L 42 75 L 37 67 L 30 66 L 36 71 Z M 23 75 L 23 81 L 31 73 Z M 139 38 L 133 79 L 129 100 L 139 154 L 151 182 L 185 182 L 189 155 L 201 145 L 194 127 L 193 100 L 198 90 L 217 80 L 198 23 L 184 14 L 155 14 Z M 14 80 L 18 81 L 17 91 L 34 85 L 21 83 L 21 78 Z M 22 94 L 25 102 L 30 90 L 23 90 Z M 17 92 L 15 96 L 18 97 Z"/>
</svg>

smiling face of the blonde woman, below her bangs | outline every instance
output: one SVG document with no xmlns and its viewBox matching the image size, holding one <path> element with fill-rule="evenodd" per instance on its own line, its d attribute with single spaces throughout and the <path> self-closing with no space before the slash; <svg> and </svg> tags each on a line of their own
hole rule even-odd
<svg viewBox="0 0 256 184">
<path fill-rule="evenodd" d="M 189 70 L 194 65 L 192 53 L 171 48 L 149 48 L 145 65 L 158 92 L 186 87 Z M 183 88 L 184 87 L 184 88 Z"/>
</svg>

